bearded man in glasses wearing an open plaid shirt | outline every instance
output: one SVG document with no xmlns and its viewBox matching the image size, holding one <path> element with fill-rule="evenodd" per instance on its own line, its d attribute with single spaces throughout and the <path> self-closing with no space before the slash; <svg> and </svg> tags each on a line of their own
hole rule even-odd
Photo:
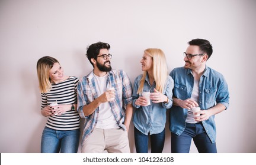
<svg viewBox="0 0 256 165">
<path fill-rule="evenodd" d="M 85 118 L 82 153 L 130 153 L 132 84 L 126 72 L 111 68 L 109 49 L 104 42 L 87 48 L 94 69 L 78 82 L 78 113 Z"/>
</svg>

